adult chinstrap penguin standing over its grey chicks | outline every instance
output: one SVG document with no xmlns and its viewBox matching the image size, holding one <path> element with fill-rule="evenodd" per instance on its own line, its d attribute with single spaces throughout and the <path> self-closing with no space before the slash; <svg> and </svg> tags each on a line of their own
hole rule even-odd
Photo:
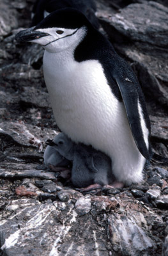
<svg viewBox="0 0 168 256">
<path fill-rule="evenodd" d="M 137 77 L 109 40 L 71 8 L 15 39 L 45 49 L 43 74 L 59 129 L 111 157 L 118 181 L 141 182 L 151 155 L 149 117 Z"/>
</svg>

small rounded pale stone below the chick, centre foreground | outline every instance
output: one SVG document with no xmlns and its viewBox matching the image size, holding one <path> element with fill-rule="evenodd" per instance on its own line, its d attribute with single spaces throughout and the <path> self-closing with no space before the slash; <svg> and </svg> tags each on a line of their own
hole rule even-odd
<svg viewBox="0 0 168 256">
<path fill-rule="evenodd" d="M 88 213 L 91 210 L 91 198 L 89 195 L 82 196 L 75 204 L 75 210 L 79 216 Z"/>
</svg>

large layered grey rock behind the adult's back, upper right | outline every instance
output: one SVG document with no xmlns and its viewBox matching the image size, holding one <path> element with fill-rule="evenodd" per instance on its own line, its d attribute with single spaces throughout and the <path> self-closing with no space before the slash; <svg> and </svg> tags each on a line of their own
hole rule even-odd
<svg viewBox="0 0 168 256">
<path fill-rule="evenodd" d="M 165 106 L 168 106 L 167 13 L 168 8 L 162 4 L 144 1 L 130 4 L 115 15 L 109 12 L 100 17 L 114 47 L 134 62 L 144 93 L 148 97 L 153 95 L 153 99 Z"/>
</svg>

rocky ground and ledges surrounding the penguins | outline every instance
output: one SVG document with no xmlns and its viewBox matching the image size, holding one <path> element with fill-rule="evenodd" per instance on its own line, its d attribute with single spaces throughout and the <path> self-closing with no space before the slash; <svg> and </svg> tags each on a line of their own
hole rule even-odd
<svg viewBox="0 0 168 256">
<path fill-rule="evenodd" d="M 141 83 L 153 148 L 168 157 L 167 1 L 96 3 L 103 33 Z M 0 3 L 0 255 L 168 255 L 167 165 L 152 161 L 142 184 L 97 195 L 43 165 L 45 140 L 58 132 L 43 50 L 14 40 L 32 5 Z"/>
</svg>

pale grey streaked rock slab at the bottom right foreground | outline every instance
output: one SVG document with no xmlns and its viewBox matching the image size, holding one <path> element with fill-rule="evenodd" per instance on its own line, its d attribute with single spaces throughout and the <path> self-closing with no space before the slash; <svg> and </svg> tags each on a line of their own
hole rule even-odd
<svg viewBox="0 0 168 256">
<path fill-rule="evenodd" d="M 134 217 L 115 213 L 109 216 L 108 236 L 119 255 L 140 256 L 155 246 L 148 233 L 142 229 L 142 223 L 146 221 L 140 212 Z"/>
</svg>

